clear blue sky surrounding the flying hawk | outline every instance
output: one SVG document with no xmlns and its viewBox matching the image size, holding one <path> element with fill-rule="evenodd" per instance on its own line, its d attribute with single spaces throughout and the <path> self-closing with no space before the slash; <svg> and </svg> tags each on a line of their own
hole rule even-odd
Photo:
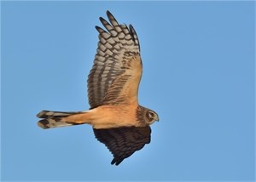
<svg viewBox="0 0 256 182">
<path fill-rule="evenodd" d="M 2 2 L 2 180 L 253 180 L 253 2 Z M 157 111 L 142 151 L 110 165 L 90 126 L 43 130 L 41 110 L 89 108 L 99 16 L 132 24 L 142 105 Z"/>
</svg>

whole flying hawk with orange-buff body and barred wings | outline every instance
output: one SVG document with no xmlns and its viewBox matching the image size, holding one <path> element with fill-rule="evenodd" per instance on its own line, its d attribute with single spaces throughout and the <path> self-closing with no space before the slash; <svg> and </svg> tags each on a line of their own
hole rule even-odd
<svg viewBox="0 0 256 182">
<path fill-rule="evenodd" d="M 138 104 L 137 93 L 143 64 L 133 26 L 120 25 L 109 11 L 100 17 L 105 30 L 99 32 L 94 65 L 87 80 L 88 111 L 41 111 L 41 128 L 90 124 L 96 139 L 113 154 L 119 165 L 150 142 L 150 124 L 159 121 L 155 111 Z"/>
</svg>

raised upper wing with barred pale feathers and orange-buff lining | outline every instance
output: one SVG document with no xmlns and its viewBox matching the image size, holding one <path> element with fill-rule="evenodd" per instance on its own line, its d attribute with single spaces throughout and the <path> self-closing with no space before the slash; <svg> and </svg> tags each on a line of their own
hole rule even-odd
<svg viewBox="0 0 256 182">
<path fill-rule="evenodd" d="M 136 31 L 131 25 L 119 25 L 109 11 L 107 15 L 110 23 L 100 18 L 107 31 L 96 26 L 99 42 L 87 80 L 90 108 L 137 101 L 142 75 Z"/>
</svg>

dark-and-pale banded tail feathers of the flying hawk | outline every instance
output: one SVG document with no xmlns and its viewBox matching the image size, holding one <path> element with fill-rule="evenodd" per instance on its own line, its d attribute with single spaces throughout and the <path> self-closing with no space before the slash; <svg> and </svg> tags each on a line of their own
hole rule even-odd
<svg viewBox="0 0 256 182">
<path fill-rule="evenodd" d="M 37 114 L 37 117 L 44 118 L 40 121 L 38 121 L 38 126 L 40 128 L 58 128 L 58 127 L 67 127 L 67 126 L 73 126 L 78 124 L 84 124 L 84 123 L 77 123 L 77 122 L 68 122 L 65 121 L 65 117 L 70 117 L 73 115 L 84 113 L 82 111 L 78 112 L 62 112 L 62 111 L 40 111 Z"/>
</svg>

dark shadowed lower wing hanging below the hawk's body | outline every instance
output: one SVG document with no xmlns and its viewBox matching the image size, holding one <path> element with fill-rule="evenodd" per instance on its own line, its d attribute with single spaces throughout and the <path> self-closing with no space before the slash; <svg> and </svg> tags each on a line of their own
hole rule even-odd
<svg viewBox="0 0 256 182">
<path fill-rule="evenodd" d="M 150 143 L 151 128 L 124 127 L 93 129 L 96 139 L 105 144 L 113 154 L 111 164 L 119 165 L 125 158 Z"/>
</svg>

